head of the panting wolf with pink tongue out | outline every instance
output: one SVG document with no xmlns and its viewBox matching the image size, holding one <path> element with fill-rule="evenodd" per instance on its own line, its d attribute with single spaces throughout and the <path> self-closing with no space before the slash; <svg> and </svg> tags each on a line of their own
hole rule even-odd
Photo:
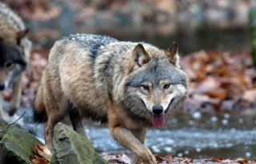
<svg viewBox="0 0 256 164">
<path fill-rule="evenodd" d="M 179 66 L 177 43 L 166 51 L 138 44 L 132 62 L 122 103 L 133 117 L 162 128 L 167 111 L 178 110 L 187 96 L 188 78 Z"/>
</svg>

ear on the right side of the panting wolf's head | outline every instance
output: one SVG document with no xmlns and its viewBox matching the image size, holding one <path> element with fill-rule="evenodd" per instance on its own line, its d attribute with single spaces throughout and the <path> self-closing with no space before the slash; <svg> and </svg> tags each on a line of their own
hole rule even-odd
<svg viewBox="0 0 256 164">
<path fill-rule="evenodd" d="M 174 66 L 179 66 L 179 56 L 178 56 L 178 44 L 177 42 L 173 42 L 173 45 L 169 50 L 166 50 L 166 56 L 169 58 L 170 63 L 174 64 Z"/>
</svg>

